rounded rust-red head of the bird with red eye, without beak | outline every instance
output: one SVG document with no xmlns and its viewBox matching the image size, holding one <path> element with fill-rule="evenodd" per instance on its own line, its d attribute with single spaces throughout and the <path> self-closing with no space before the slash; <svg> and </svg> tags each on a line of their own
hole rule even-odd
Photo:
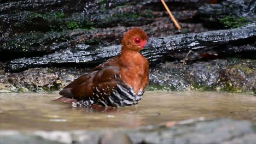
<svg viewBox="0 0 256 144">
<path fill-rule="evenodd" d="M 141 51 L 148 42 L 148 35 L 142 29 L 132 28 L 122 40 L 122 50 Z"/>
</svg>

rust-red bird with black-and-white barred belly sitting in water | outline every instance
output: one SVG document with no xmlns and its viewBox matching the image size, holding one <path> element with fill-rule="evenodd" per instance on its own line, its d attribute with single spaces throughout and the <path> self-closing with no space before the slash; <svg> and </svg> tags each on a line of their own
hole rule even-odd
<svg viewBox="0 0 256 144">
<path fill-rule="evenodd" d="M 148 35 L 132 28 L 121 40 L 120 55 L 108 59 L 89 73 L 78 77 L 60 91 L 64 102 L 73 106 L 128 106 L 138 104 L 149 83 L 149 62 L 141 53 Z"/>
</svg>

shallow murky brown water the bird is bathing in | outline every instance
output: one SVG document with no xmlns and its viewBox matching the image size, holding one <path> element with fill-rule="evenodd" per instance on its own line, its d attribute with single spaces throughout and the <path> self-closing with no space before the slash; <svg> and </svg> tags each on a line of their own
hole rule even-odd
<svg viewBox="0 0 256 144">
<path fill-rule="evenodd" d="M 0 93 L 0 130 L 135 128 L 189 118 L 256 121 L 256 97 L 224 92 L 152 92 L 135 106 L 92 109 L 52 101 L 57 93 Z"/>
</svg>

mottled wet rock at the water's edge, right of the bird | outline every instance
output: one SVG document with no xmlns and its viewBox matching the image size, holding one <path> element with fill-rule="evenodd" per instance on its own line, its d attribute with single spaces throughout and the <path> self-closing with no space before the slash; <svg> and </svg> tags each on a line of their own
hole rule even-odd
<svg viewBox="0 0 256 144">
<path fill-rule="evenodd" d="M 189 65 L 167 62 L 150 70 L 149 89 L 255 92 L 255 65 L 255 60 L 237 58 Z"/>
</svg>

